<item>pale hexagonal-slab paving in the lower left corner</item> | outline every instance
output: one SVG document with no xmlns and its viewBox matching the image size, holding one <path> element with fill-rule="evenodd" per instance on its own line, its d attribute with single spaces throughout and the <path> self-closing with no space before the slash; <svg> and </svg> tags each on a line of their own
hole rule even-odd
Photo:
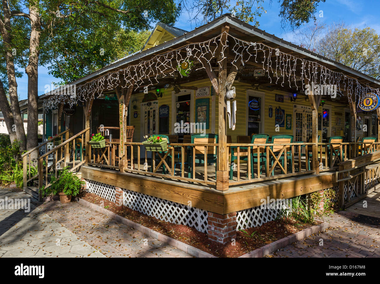
<svg viewBox="0 0 380 284">
<path fill-rule="evenodd" d="M 30 196 L 0 189 L 0 199 L 5 198 L 14 201 Z M 0 257 L 105 256 L 30 204 L 30 212 L 13 207 L 5 209 L 5 206 L 0 209 Z"/>
</svg>

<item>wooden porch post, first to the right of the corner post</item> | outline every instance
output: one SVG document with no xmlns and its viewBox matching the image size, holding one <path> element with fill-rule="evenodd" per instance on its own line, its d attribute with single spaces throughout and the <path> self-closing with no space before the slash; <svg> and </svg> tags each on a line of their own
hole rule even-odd
<svg viewBox="0 0 380 284">
<path fill-rule="evenodd" d="M 309 84 L 309 79 L 305 77 L 305 85 Z M 319 174 L 319 161 L 318 161 L 318 107 L 320 102 L 320 96 L 314 96 L 314 92 L 310 87 L 310 91 L 307 94 L 312 108 L 312 168 L 316 174 Z"/>
</svg>

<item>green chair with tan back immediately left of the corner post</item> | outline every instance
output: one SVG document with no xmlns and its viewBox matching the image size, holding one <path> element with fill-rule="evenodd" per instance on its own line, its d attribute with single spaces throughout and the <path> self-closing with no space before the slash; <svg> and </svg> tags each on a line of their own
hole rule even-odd
<svg viewBox="0 0 380 284">
<path fill-rule="evenodd" d="M 217 144 L 218 143 L 218 134 L 192 134 L 191 136 L 192 144 Z M 193 147 L 195 147 L 195 157 L 193 157 Z M 193 171 L 195 170 L 195 164 L 193 165 L 193 158 L 196 164 L 204 164 L 204 146 L 188 146 L 189 157 L 188 157 L 188 165 L 189 172 L 188 177 L 191 179 L 193 177 Z M 217 152 L 216 146 L 207 147 L 207 163 L 217 163 Z M 215 165 L 215 179 L 216 179 L 216 165 Z M 207 175 L 207 172 L 204 173 Z"/>
</svg>

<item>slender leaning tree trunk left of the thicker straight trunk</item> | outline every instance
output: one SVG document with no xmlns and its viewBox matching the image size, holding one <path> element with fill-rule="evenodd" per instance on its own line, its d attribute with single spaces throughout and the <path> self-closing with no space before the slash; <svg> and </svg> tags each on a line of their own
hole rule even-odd
<svg viewBox="0 0 380 284">
<path fill-rule="evenodd" d="M 16 126 L 16 137 L 20 144 L 20 151 L 24 151 L 26 147 L 26 136 L 24 129 L 24 120 L 21 117 L 19 98 L 17 96 L 16 73 L 14 72 L 13 54 L 11 51 L 11 16 L 8 10 L 8 3 L 3 0 L 3 22 L 0 21 L 0 31 L 3 37 L 5 49 L 6 72 L 8 75 L 9 100 L 11 101 L 11 111 L 13 121 Z M 13 124 L 12 124 L 13 127 Z"/>
</svg>

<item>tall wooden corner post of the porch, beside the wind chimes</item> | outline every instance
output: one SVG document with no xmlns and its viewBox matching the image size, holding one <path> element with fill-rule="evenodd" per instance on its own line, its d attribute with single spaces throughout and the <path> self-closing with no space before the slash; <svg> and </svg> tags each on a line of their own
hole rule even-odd
<svg viewBox="0 0 380 284">
<path fill-rule="evenodd" d="M 216 189 L 228 190 L 228 156 L 227 156 L 227 107 L 226 107 L 226 81 L 227 81 L 227 60 L 223 58 L 222 47 L 226 44 L 229 26 L 222 29 L 222 37 L 218 46 L 219 63 L 219 86 L 218 86 L 218 105 L 219 105 L 219 132 L 218 132 L 218 171 L 216 173 Z"/>
</svg>

